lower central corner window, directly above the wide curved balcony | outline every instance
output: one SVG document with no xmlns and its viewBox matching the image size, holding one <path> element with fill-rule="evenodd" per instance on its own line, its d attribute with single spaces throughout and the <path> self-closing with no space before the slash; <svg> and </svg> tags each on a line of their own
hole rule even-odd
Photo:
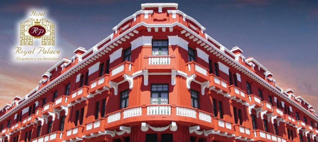
<svg viewBox="0 0 318 142">
<path fill-rule="evenodd" d="M 168 84 L 151 84 L 151 104 L 168 104 Z"/>
</svg>

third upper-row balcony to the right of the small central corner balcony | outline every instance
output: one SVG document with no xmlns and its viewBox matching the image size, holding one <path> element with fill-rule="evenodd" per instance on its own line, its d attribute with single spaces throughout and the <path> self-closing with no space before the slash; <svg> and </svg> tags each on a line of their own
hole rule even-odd
<svg viewBox="0 0 318 142">
<path fill-rule="evenodd" d="M 248 98 L 247 98 L 247 95 L 245 94 L 245 91 L 235 87 L 234 85 L 230 85 L 229 89 L 230 89 L 231 99 L 242 104 L 246 104 L 246 102 L 248 102 Z"/>
</svg>

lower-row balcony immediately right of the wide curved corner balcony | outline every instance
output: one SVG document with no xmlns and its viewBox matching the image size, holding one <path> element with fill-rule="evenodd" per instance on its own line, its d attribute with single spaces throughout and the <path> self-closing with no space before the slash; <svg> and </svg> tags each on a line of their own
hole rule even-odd
<svg viewBox="0 0 318 142">
<path fill-rule="evenodd" d="M 225 121 L 221 118 L 214 117 L 214 131 L 218 132 L 218 135 L 225 137 L 233 137 L 234 136 L 234 127 L 231 122 Z"/>
</svg>

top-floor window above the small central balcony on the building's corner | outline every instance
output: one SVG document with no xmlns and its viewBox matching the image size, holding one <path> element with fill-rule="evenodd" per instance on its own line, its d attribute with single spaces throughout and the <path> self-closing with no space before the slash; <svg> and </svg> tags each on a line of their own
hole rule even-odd
<svg viewBox="0 0 318 142">
<path fill-rule="evenodd" d="M 168 55 L 168 40 L 153 40 L 152 55 Z"/>
</svg>

